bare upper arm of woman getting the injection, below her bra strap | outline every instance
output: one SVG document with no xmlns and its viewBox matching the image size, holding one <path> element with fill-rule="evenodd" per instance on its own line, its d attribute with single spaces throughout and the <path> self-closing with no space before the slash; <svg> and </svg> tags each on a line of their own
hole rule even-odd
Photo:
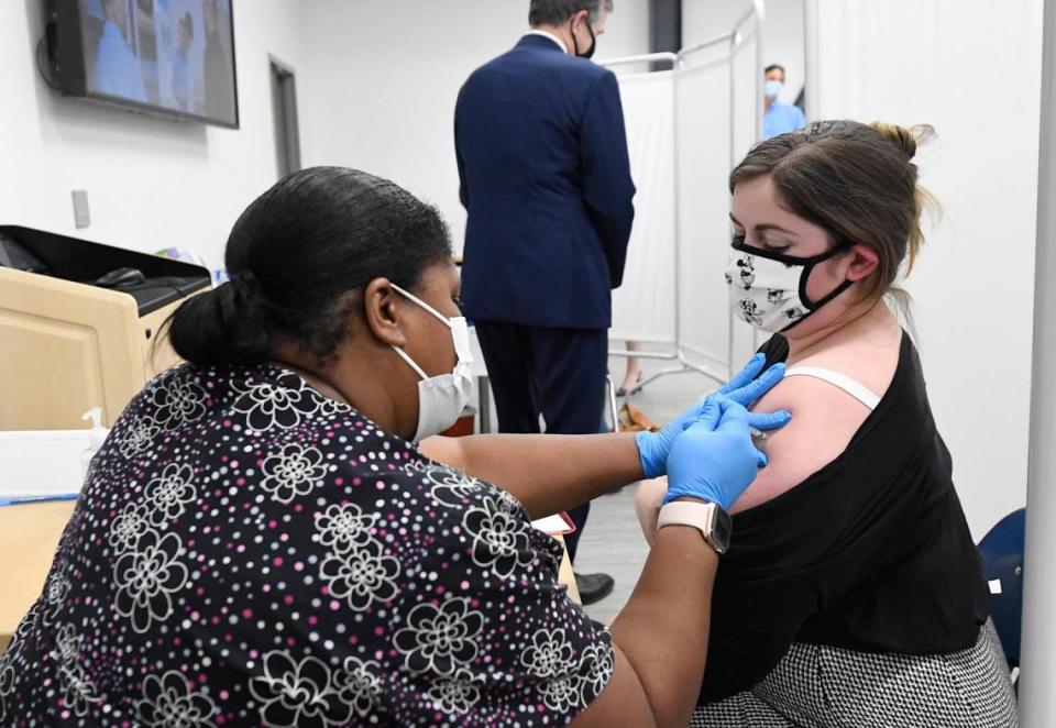
<svg viewBox="0 0 1056 728">
<path fill-rule="evenodd" d="M 762 505 L 795 487 L 833 462 L 847 449 L 869 409 L 833 385 L 810 377 L 788 377 L 754 409 L 787 409 L 792 421 L 757 441 L 769 460 L 767 467 L 730 509 L 738 512 Z"/>
</svg>

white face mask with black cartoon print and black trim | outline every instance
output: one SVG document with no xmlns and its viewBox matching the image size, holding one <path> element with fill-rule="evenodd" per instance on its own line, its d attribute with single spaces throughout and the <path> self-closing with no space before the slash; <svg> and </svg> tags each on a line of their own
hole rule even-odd
<svg viewBox="0 0 1056 728">
<path fill-rule="evenodd" d="M 734 316 L 769 333 L 791 329 L 851 286 L 850 280 L 845 280 L 817 301 L 806 296 L 806 282 L 814 266 L 847 249 L 843 244 L 814 257 L 792 257 L 735 244 L 726 268 Z"/>
</svg>

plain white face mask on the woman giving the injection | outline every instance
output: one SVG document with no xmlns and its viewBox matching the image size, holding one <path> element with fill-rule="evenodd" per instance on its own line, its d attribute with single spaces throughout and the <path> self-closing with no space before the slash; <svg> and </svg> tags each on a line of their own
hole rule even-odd
<svg viewBox="0 0 1056 728">
<path fill-rule="evenodd" d="M 408 300 L 432 313 L 451 329 L 451 338 L 454 340 L 454 354 L 458 357 L 454 363 L 454 371 L 451 374 L 431 377 L 415 363 L 407 352 L 393 346 L 393 350 L 421 377 L 421 382 L 418 383 L 418 429 L 414 437 L 415 442 L 420 442 L 430 435 L 440 434 L 454 424 L 462 416 L 462 410 L 470 404 L 473 391 L 473 374 L 471 372 L 473 352 L 470 349 L 470 328 L 465 322 L 465 317 L 459 316 L 449 319 L 429 304 L 396 284 L 393 284 L 393 288 Z"/>
</svg>

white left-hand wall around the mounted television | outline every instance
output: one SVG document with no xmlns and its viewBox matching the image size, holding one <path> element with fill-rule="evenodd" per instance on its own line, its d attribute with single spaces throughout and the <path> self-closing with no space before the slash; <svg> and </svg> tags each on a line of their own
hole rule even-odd
<svg viewBox="0 0 1056 728">
<path fill-rule="evenodd" d="M 231 224 L 277 178 L 268 54 L 304 67 L 299 5 L 235 3 L 242 129 L 231 131 L 61 97 L 34 66 L 41 4 L 0 2 L 0 223 L 189 247 L 220 265 Z M 72 189 L 88 190 L 86 230 L 74 228 Z"/>
</svg>

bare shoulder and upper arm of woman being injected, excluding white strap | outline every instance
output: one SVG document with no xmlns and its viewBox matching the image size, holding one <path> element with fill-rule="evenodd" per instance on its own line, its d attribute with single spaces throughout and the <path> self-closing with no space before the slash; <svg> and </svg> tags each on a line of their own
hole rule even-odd
<svg viewBox="0 0 1056 728">
<path fill-rule="evenodd" d="M 848 342 L 796 365 L 832 369 L 882 397 L 898 368 L 900 343 L 900 338 Z M 870 415 L 868 407 L 844 390 L 806 376 L 785 377 L 754 409 L 787 409 L 792 421 L 759 443 L 770 464 L 734 504 L 734 512 L 778 497 L 839 457 Z"/>
</svg>

